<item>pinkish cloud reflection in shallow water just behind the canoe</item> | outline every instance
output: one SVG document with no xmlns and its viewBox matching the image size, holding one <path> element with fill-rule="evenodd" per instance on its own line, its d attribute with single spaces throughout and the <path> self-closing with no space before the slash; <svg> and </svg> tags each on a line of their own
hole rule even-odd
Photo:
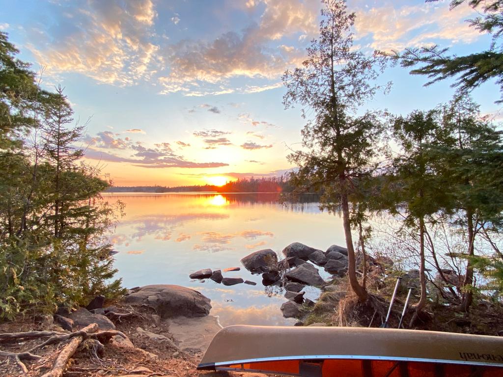
<svg viewBox="0 0 503 377">
<path fill-rule="evenodd" d="M 234 307 L 232 303 L 211 303 L 210 315 L 219 316 L 222 326 L 230 325 L 287 325 L 296 321 L 283 318 L 277 304 L 251 306 L 248 308 Z"/>
</svg>

